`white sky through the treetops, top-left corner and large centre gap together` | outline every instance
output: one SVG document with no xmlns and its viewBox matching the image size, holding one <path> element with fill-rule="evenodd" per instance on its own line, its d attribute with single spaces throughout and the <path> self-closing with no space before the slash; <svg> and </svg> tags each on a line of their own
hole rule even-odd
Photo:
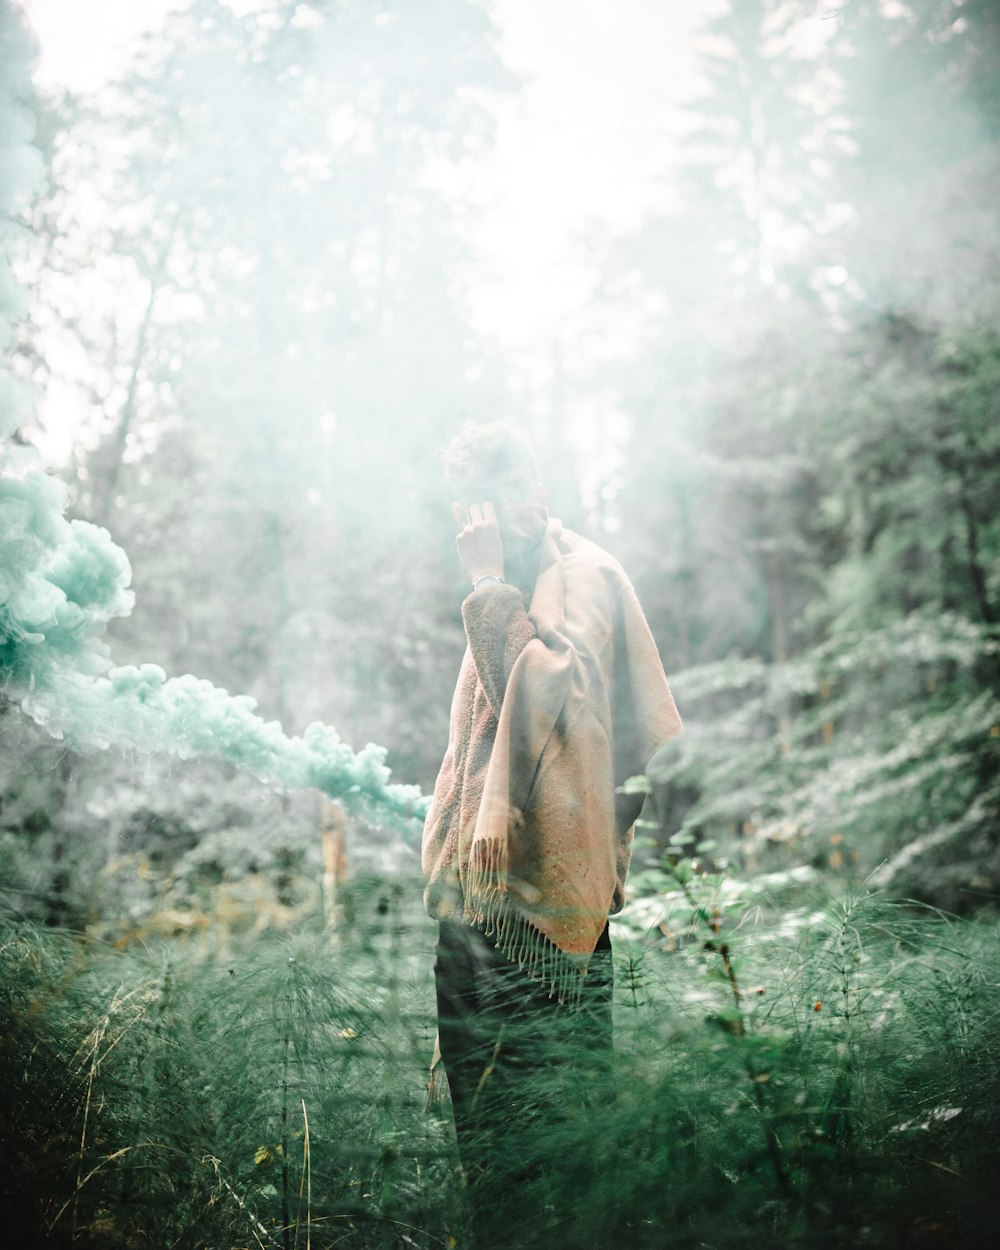
<svg viewBox="0 0 1000 1250">
<path fill-rule="evenodd" d="M 96 2 L 22 0 L 41 44 L 41 86 L 99 88 L 172 6 L 99 0 L 98 24 Z M 571 370 L 580 350 L 565 328 L 586 309 L 595 278 L 584 234 L 625 232 L 651 204 L 669 202 L 678 104 L 696 88 L 691 34 L 716 6 L 491 0 L 501 55 L 524 85 L 499 104 L 469 295 L 478 328 L 500 341 L 529 400 L 534 392 L 542 402 L 556 354 Z M 619 342 L 606 350 L 628 351 L 631 332 L 616 328 Z"/>
</svg>

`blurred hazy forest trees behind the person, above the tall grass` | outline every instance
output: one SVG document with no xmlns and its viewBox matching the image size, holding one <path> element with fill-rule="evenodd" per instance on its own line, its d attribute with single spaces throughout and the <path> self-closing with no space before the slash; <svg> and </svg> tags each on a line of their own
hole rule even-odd
<svg viewBox="0 0 1000 1250">
<path fill-rule="evenodd" d="M 521 90 L 499 46 L 472 0 L 192 0 L 119 80 L 36 95 L 14 364 L 71 409 L 71 515 L 132 562 L 116 662 L 379 741 L 428 789 L 462 649 L 435 451 L 520 420 L 676 686 L 659 840 L 995 896 L 995 6 L 706 6 L 666 206 L 580 240 L 592 290 L 529 391 L 470 311 L 474 171 Z M 36 914 L 102 911 L 125 849 L 220 879 L 318 854 L 218 766 L 0 731 Z"/>
</svg>

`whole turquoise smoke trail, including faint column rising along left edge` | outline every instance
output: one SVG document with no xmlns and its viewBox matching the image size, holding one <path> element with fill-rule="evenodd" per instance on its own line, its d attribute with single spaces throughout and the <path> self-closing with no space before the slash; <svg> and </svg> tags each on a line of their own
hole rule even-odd
<svg viewBox="0 0 1000 1250">
<path fill-rule="evenodd" d="M 0 0 L 0 340 L 6 351 L 25 298 L 6 259 L 16 214 L 35 194 L 41 162 L 24 100 L 34 49 Z M 328 725 L 290 738 L 255 702 L 210 681 L 168 679 L 155 664 L 112 668 L 108 622 L 126 616 L 131 569 L 108 530 L 68 520 L 66 490 L 12 435 L 30 394 L 0 376 L 0 691 L 79 751 L 128 746 L 228 760 L 288 789 L 311 786 L 372 819 L 422 815 L 416 786 L 391 785 L 385 750 L 355 754 Z"/>
</svg>

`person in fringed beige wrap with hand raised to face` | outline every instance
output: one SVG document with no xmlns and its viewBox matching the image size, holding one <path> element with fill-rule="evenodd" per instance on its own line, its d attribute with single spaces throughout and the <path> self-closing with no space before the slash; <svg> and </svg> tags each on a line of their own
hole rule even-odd
<svg viewBox="0 0 1000 1250">
<path fill-rule="evenodd" d="M 579 1104 L 595 1096 L 582 1071 L 599 1075 L 610 1055 L 608 918 L 641 806 L 619 788 L 681 724 L 631 584 L 549 519 L 525 436 L 469 430 L 445 474 L 471 590 L 424 829 L 425 902 L 440 921 L 439 1045 L 459 1150 L 470 1190 L 496 1211 L 505 1189 L 552 1170 L 530 1126 L 571 1114 L 568 1089 Z M 538 1078 L 556 1070 L 552 1092 Z"/>
</svg>

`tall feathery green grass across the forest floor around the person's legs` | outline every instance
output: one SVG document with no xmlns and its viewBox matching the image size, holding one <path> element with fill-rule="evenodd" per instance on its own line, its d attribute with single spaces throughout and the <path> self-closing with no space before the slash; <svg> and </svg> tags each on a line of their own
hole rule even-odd
<svg viewBox="0 0 1000 1250">
<path fill-rule="evenodd" d="M 996 928 L 688 885 L 618 930 L 606 1086 L 511 1119 L 498 1244 L 991 1244 Z M 316 922 L 221 954 L 8 922 L 16 1244 L 470 1245 L 448 1104 L 425 1106 L 434 926 L 415 882 L 356 884 L 351 912 L 336 942 Z M 571 1060 L 549 1075 L 574 1089 Z"/>
</svg>

